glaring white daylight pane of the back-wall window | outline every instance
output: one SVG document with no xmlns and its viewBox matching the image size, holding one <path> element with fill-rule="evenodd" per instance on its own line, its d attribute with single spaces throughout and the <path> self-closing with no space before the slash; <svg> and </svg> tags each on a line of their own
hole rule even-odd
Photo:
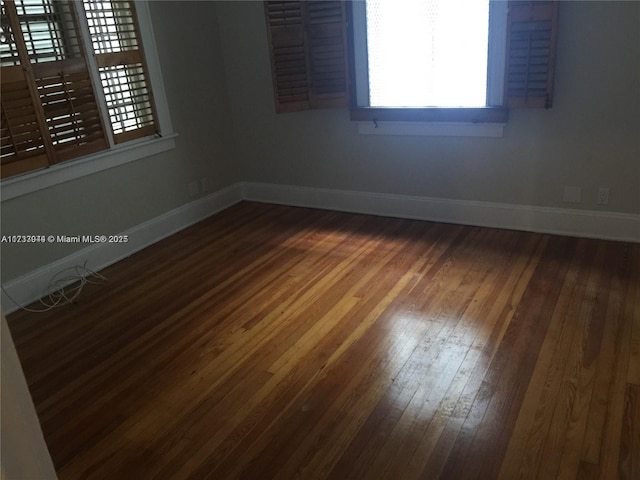
<svg viewBox="0 0 640 480">
<path fill-rule="evenodd" d="M 371 107 L 487 105 L 489 0 L 367 0 Z"/>
</svg>

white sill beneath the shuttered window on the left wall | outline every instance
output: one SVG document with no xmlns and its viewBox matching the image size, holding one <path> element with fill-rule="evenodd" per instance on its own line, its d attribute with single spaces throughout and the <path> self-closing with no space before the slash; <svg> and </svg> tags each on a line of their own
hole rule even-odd
<svg viewBox="0 0 640 480">
<path fill-rule="evenodd" d="M 109 168 L 134 162 L 175 148 L 176 133 L 160 138 L 145 138 L 128 142 L 86 157 L 75 158 L 42 170 L 9 177 L 0 183 L 1 201 L 27 195 L 44 188 Z"/>
</svg>

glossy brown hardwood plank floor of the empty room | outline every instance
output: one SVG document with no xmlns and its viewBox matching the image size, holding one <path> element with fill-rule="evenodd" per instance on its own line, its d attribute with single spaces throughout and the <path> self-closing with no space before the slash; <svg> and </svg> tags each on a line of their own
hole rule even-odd
<svg viewBox="0 0 640 480">
<path fill-rule="evenodd" d="M 640 244 L 238 204 L 10 316 L 61 479 L 640 478 Z"/>
</svg>

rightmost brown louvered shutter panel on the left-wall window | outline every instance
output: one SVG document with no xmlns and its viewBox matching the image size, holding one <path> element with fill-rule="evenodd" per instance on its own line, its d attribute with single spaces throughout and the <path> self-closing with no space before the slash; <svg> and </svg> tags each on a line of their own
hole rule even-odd
<svg viewBox="0 0 640 480">
<path fill-rule="evenodd" d="M 156 112 L 132 1 L 83 2 L 115 143 L 157 132 Z"/>
</svg>

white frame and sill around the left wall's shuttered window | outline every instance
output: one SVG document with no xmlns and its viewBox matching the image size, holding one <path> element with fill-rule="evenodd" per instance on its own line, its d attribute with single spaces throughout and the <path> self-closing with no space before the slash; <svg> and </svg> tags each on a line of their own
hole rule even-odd
<svg viewBox="0 0 640 480">
<path fill-rule="evenodd" d="M 0 182 L 0 201 L 27 195 L 44 188 L 98 173 L 175 148 L 175 138 L 177 134 L 173 132 L 169 114 L 169 105 L 164 88 L 149 5 L 148 2 L 134 1 L 141 43 L 144 45 L 148 80 L 155 101 L 158 131 L 161 132 L 161 136 L 143 137 L 116 144 L 113 142 L 110 131 L 111 127 L 106 123 L 105 129 L 109 137 L 106 150 L 79 156 L 65 162 L 49 165 L 45 168 L 30 170 L 6 177 Z M 80 8 L 82 7 L 80 6 Z M 80 30 L 83 40 L 87 46 L 87 50 L 89 50 L 86 55 L 87 57 L 91 57 L 88 58 L 90 74 L 96 86 L 100 87 L 100 76 L 97 75 L 97 67 L 93 59 L 93 50 L 86 28 L 86 18 L 81 12 L 78 14 L 78 18 L 82 24 Z M 103 95 L 102 88 L 96 88 L 96 96 L 101 97 Z M 100 99 L 100 101 L 102 102 L 102 99 Z M 102 105 L 104 104 L 102 103 Z"/>
</svg>

